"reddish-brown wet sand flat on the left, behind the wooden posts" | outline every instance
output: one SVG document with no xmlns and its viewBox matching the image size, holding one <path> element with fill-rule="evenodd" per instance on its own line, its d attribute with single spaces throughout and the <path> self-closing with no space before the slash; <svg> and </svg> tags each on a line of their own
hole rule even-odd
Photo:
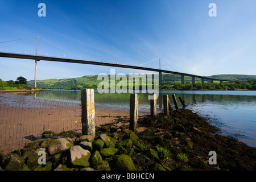
<svg viewBox="0 0 256 182">
<path fill-rule="evenodd" d="M 96 126 L 129 119 L 129 109 L 95 106 Z M 146 113 L 139 113 L 140 116 Z M 30 96 L 0 94 L 0 151 L 26 146 L 44 131 L 81 132 L 81 104 Z"/>
</svg>

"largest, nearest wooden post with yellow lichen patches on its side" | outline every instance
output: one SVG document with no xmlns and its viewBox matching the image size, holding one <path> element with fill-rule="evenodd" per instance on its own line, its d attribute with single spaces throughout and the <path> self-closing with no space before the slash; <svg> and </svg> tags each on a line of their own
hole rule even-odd
<svg viewBox="0 0 256 182">
<path fill-rule="evenodd" d="M 82 135 L 95 137 L 94 89 L 81 90 Z"/>
</svg>

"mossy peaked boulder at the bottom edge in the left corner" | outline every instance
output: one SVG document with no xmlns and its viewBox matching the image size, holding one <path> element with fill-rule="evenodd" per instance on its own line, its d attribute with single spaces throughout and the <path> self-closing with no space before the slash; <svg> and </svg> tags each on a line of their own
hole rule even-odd
<svg viewBox="0 0 256 182">
<path fill-rule="evenodd" d="M 27 167 L 25 160 L 18 156 L 18 154 L 12 154 L 5 171 L 30 171 L 30 168 Z"/>
</svg>

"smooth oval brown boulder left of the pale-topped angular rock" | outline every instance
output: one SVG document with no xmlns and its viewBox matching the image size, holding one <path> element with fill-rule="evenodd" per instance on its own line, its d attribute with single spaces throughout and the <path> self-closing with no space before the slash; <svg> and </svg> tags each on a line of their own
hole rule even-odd
<svg viewBox="0 0 256 182">
<path fill-rule="evenodd" d="M 48 147 L 49 155 L 55 155 L 61 152 L 66 152 L 74 146 L 71 138 L 60 138 L 53 140 Z"/>
</svg>

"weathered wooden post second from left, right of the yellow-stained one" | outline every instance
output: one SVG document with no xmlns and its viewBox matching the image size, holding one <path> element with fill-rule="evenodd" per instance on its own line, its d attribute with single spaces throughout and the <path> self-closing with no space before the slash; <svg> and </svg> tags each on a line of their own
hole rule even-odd
<svg viewBox="0 0 256 182">
<path fill-rule="evenodd" d="M 130 126 L 129 130 L 137 132 L 139 113 L 139 94 L 131 94 L 130 96 Z"/>
</svg>

